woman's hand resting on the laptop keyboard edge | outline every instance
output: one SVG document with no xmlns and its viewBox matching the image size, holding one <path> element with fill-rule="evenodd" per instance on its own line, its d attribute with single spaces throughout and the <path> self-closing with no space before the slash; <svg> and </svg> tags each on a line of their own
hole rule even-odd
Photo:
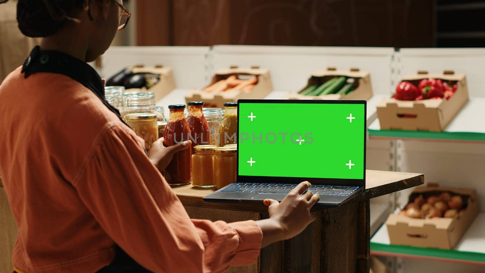
<svg viewBox="0 0 485 273">
<path fill-rule="evenodd" d="M 264 200 L 270 218 L 257 222 L 263 231 L 261 247 L 279 240 L 291 239 L 315 221 L 310 209 L 318 202 L 320 196 L 307 190 L 310 186 L 307 181 L 298 184 L 281 203 L 271 199 Z"/>
</svg>

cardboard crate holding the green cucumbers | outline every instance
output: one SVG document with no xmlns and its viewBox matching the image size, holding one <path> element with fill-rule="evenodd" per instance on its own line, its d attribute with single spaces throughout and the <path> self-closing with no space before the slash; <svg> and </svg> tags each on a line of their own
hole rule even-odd
<svg viewBox="0 0 485 273">
<path fill-rule="evenodd" d="M 356 88 L 348 95 L 329 94 L 323 96 L 306 96 L 300 94 L 310 85 L 321 85 L 324 82 L 336 76 L 346 76 L 354 78 L 354 87 Z M 369 71 L 360 71 L 359 68 L 351 68 L 350 70 L 337 70 L 336 68 L 327 68 L 326 70 L 316 70 L 308 79 L 307 85 L 298 93 L 289 93 L 286 99 L 290 100 L 369 100 L 372 97 L 371 74 Z"/>
</svg>

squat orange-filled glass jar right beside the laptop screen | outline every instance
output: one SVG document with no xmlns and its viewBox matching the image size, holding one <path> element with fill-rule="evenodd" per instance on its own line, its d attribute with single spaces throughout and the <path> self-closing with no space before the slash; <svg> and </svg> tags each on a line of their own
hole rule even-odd
<svg viewBox="0 0 485 273">
<path fill-rule="evenodd" d="M 236 181 L 236 148 L 217 147 L 212 157 L 214 188 L 223 188 Z"/>
</svg>

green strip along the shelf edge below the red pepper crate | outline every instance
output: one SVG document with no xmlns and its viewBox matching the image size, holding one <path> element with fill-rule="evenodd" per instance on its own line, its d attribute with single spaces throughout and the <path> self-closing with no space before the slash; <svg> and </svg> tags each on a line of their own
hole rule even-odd
<svg viewBox="0 0 485 273">
<path fill-rule="evenodd" d="M 369 136 L 392 138 L 422 138 L 464 141 L 485 141 L 485 134 L 472 132 L 429 132 L 429 131 L 402 131 L 402 130 L 372 130 Z"/>
</svg>

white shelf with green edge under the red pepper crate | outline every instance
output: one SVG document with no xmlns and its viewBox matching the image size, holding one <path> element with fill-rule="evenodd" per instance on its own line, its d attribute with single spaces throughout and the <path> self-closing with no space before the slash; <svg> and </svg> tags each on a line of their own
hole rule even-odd
<svg viewBox="0 0 485 273">
<path fill-rule="evenodd" d="M 485 116 L 483 105 L 485 105 L 485 98 L 470 98 L 443 132 L 381 130 L 379 119 L 375 119 L 369 126 L 369 137 L 485 143 L 485 123 L 480 122 L 480 117 Z"/>
</svg>

